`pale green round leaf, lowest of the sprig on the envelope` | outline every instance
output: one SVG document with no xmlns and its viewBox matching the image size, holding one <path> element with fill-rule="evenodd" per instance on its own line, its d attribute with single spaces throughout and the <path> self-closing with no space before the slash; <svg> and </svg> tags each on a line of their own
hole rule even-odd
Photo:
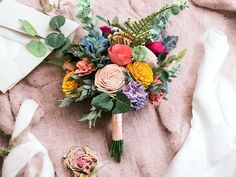
<svg viewBox="0 0 236 177">
<path fill-rule="evenodd" d="M 26 49 L 35 57 L 43 57 L 47 54 L 47 48 L 40 40 L 32 40 L 26 45 Z"/>
</svg>

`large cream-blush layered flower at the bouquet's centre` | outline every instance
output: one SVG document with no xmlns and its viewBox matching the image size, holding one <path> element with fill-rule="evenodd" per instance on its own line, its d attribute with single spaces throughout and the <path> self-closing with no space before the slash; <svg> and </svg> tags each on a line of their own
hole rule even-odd
<svg viewBox="0 0 236 177">
<path fill-rule="evenodd" d="M 125 84 L 125 68 L 116 64 L 106 65 L 97 71 L 95 75 L 95 86 L 101 92 L 115 93 L 122 89 Z"/>
</svg>

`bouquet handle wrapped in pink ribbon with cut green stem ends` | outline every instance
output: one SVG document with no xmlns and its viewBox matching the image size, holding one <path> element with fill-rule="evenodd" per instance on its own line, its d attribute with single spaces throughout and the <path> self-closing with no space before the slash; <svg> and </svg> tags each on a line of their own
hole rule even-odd
<svg viewBox="0 0 236 177">
<path fill-rule="evenodd" d="M 122 114 L 112 115 L 112 144 L 110 154 L 121 161 L 123 154 L 123 132 L 122 132 Z"/>
</svg>

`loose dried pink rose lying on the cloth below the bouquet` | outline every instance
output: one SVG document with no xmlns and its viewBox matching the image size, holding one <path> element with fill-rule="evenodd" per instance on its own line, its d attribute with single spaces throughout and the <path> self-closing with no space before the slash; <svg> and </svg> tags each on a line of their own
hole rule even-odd
<svg viewBox="0 0 236 177">
<path fill-rule="evenodd" d="M 97 156 L 88 146 L 74 148 L 64 157 L 64 165 L 73 177 L 90 177 L 96 172 Z"/>
</svg>

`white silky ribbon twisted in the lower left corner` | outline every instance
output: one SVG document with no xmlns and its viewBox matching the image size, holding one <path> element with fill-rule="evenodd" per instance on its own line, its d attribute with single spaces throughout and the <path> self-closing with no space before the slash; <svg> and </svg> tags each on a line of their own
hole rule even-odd
<svg viewBox="0 0 236 177">
<path fill-rule="evenodd" d="M 38 104 L 25 100 L 16 117 L 10 144 L 3 162 L 2 177 L 54 177 L 54 168 L 43 145 L 29 132 Z"/>
</svg>

